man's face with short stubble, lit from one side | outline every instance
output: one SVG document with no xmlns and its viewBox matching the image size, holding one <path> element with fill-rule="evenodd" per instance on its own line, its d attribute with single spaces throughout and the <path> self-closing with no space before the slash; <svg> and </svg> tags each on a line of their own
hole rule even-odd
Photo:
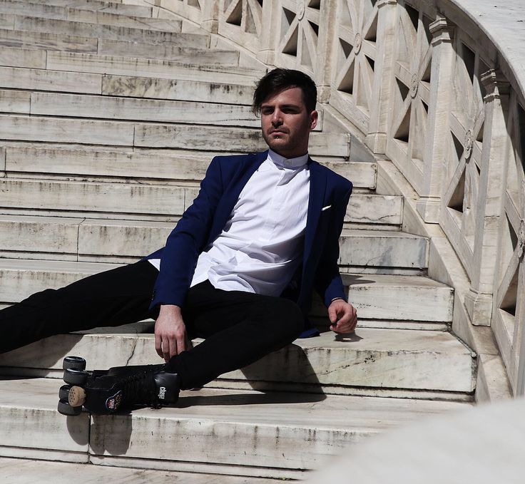
<svg viewBox="0 0 525 484">
<path fill-rule="evenodd" d="M 305 155 L 317 111 L 309 113 L 300 88 L 270 95 L 260 107 L 260 124 L 266 144 L 285 158 Z"/>
</svg>

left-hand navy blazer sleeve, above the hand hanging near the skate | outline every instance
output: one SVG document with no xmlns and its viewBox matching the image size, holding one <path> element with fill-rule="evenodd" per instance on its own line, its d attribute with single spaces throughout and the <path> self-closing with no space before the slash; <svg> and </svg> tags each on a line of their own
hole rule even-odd
<svg viewBox="0 0 525 484">
<path fill-rule="evenodd" d="M 183 305 L 197 259 L 208 242 L 215 208 L 222 194 L 220 163 L 218 158 L 213 158 L 193 204 L 185 210 L 166 240 L 151 307 L 158 304 Z"/>
</svg>

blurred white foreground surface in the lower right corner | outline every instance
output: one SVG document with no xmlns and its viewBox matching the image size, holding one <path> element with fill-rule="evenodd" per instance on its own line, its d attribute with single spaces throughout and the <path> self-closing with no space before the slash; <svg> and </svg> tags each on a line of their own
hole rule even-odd
<svg viewBox="0 0 525 484">
<path fill-rule="evenodd" d="M 525 400 L 432 417 L 352 446 L 309 484 L 523 484 Z"/>
</svg>

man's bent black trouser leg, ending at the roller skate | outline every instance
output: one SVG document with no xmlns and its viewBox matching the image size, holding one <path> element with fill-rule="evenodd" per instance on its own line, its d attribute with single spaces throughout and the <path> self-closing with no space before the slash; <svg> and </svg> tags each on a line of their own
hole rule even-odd
<svg viewBox="0 0 525 484">
<path fill-rule="evenodd" d="M 183 311 L 188 331 L 205 338 L 171 359 L 183 388 L 203 386 L 290 344 L 304 329 L 295 302 L 280 297 L 215 289 L 203 282 L 190 289 Z"/>
</svg>

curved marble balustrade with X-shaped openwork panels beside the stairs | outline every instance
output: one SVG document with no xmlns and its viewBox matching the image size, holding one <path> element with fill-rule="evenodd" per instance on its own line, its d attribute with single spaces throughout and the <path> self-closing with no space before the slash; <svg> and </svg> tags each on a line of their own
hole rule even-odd
<svg viewBox="0 0 525 484">
<path fill-rule="evenodd" d="M 151 0 L 153 3 L 153 0 Z M 270 66 L 300 68 L 417 193 L 525 388 L 522 0 L 156 0 Z M 520 5 L 521 4 L 521 5 Z M 457 300 L 458 302 L 458 300 Z"/>
</svg>

